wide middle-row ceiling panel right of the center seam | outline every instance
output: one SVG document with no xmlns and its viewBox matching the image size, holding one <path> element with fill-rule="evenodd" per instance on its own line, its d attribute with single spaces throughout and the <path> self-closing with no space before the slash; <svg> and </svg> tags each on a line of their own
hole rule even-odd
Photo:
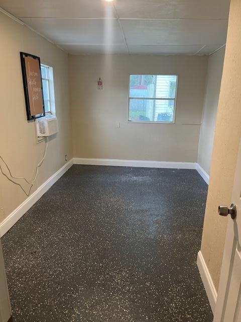
<svg viewBox="0 0 241 322">
<path fill-rule="evenodd" d="M 226 41 L 225 20 L 121 20 L 131 45 L 211 45 Z"/>
</svg>

